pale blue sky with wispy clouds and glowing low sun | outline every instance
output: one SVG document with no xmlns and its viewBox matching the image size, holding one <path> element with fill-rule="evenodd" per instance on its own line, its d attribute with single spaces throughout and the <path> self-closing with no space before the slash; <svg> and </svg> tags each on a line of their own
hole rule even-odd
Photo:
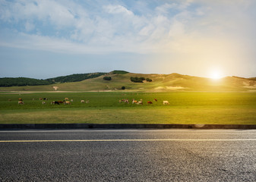
<svg viewBox="0 0 256 182">
<path fill-rule="evenodd" d="M 0 0 L 0 77 L 256 77 L 255 0 Z"/>
</svg>

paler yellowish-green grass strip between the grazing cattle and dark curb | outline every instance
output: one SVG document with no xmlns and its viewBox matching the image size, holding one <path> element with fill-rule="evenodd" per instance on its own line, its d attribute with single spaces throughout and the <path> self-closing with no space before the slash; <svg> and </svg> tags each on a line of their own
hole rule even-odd
<svg viewBox="0 0 256 182">
<path fill-rule="evenodd" d="M 0 124 L 256 124 L 254 105 L 2 110 Z"/>
</svg>

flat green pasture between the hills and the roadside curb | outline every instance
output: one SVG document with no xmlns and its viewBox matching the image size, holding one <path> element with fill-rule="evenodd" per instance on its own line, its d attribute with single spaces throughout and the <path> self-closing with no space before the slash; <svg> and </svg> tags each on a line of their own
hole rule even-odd
<svg viewBox="0 0 256 182">
<path fill-rule="evenodd" d="M 24 105 L 17 104 L 18 98 L 23 99 Z M 45 105 L 40 98 L 48 99 Z M 74 102 L 51 105 L 52 101 L 65 98 Z M 82 99 L 90 102 L 81 103 Z M 120 99 L 130 103 L 119 103 Z M 143 99 L 144 104 L 132 104 L 131 99 Z M 169 105 L 163 105 L 163 100 Z M 256 124 L 256 93 L 0 94 L 0 124 L 46 123 Z"/>
</svg>

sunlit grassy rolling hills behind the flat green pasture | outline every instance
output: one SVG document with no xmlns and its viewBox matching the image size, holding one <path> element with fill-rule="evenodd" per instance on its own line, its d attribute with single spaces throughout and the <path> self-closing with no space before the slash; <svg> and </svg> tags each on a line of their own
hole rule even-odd
<svg viewBox="0 0 256 182">
<path fill-rule="evenodd" d="M 111 77 L 111 80 L 104 80 Z M 131 77 L 149 78 L 143 83 L 134 83 Z M 206 77 L 192 77 L 182 74 L 134 74 L 127 71 L 112 71 L 86 80 L 53 83 L 40 86 L 0 87 L 0 91 L 119 91 L 127 92 L 256 92 L 256 80 L 242 77 L 223 77 L 212 80 Z"/>
</svg>

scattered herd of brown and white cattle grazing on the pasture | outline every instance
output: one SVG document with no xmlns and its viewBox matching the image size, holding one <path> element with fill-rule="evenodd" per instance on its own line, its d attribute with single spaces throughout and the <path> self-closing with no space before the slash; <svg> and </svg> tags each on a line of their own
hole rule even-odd
<svg viewBox="0 0 256 182">
<path fill-rule="evenodd" d="M 34 99 L 33 99 L 34 100 Z M 42 104 L 45 105 L 46 104 L 46 100 L 48 100 L 48 98 L 40 98 L 40 101 L 42 101 Z M 10 101 L 10 100 L 9 100 Z M 60 104 L 64 104 L 64 105 L 70 105 L 71 102 L 74 102 L 73 99 L 68 99 L 67 97 L 64 99 L 64 100 L 60 100 L 60 101 L 52 101 L 51 102 L 51 105 L 60 105 Z M 125 103 L 130 103 L 128 99 L 120 99 L 119 100 L 119 103 L 122 103 L 122 102 L 125 102 Z M 157 102 L 157 99 L 153 99 L 153 102 Z M 151 105 L 153 104 L 153 102 L 151 101 L 147 101 L 147 104 L 148 105 Z M 17 102 L 19 105 L 24 105 L 24 101 L 23 99 L 19 98 L 18 99 L 18 102 Z M 90 103 L 89 100 L 81 100 L 81 103 Z M 135 99 L 131 99 L 131 103 L 132 104 L 137 104 L 137 105 L 143 105 L 143 100 L 140 99 L 139 101 L 135 100 Z M 163 105 L 169 105 L 169 102 L 164 100 L 163 101 Z"/>
</svg>

